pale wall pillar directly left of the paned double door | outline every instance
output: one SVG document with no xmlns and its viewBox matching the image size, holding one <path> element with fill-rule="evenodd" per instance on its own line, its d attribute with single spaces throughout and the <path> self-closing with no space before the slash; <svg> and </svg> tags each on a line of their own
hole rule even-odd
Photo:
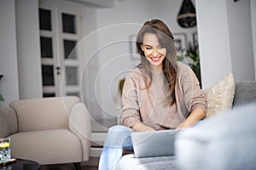
<svg viewBox="0 0 256 170">
<path fill-rule="evenodd" d="M 38 1 L 15 1 L 20 99 L 42 97 Z"/>
</svg>

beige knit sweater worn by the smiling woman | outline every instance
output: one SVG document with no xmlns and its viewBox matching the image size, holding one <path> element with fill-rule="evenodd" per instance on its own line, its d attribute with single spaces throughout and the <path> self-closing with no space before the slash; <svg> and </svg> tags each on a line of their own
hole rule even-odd
<svg viewBox="0 0 256 170">
<path fill-rule="evenodd" d="M 152 79 L 151 86 L 145 89 L 143 72 L 138 68 L 125 78 L 122 96 L 122 122 L 125 126 L 143 122 L 155 130 L 176 128 L 195 109 L 206 111 L 206 98 L 188 65 L 177 62 L 176 102 L 171 106 L 163 102 L 168 90 L 164 86 L 163 73 L 154 73 Z"/>
</svg>

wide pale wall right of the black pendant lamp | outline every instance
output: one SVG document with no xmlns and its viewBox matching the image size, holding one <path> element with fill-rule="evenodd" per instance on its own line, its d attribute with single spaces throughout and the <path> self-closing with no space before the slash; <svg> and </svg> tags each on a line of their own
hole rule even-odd
<svg viewBox="0 0 256 170">
<path fill-rule="evenodd" d="M 235 81 L 254 80 L 249 0 L 196 0 L 202 87 L 228 72 Z"/>
</svg>

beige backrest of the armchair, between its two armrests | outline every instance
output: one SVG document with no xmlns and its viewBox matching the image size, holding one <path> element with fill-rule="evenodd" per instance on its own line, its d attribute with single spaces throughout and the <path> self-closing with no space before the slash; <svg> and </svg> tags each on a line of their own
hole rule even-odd
<svg viewBox="0 0 256 170">
<path fill-rule="evenodd" d="M 19 132 L 67 128 L 67 117 L 77 97 L 24 99 L 13 101 L 10 107 L 17 113 Z"/>
</svg>

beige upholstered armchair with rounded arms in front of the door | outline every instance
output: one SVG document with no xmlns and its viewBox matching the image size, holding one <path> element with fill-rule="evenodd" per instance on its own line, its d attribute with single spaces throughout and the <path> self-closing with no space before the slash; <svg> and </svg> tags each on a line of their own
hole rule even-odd
<svg viewBox="0 0 256 170">
<path fill-rule="evenodd" d="M 13 101 L 0 110 L 0 138 L 11 155 L 41 165 L 88 161 L 90 115 L 77 97 Z"/>
</svg>

